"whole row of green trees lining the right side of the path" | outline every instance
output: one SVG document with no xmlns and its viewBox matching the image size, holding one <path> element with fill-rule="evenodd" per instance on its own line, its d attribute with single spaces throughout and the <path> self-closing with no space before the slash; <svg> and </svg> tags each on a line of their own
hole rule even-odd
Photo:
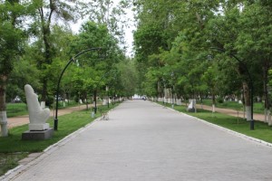
<svg viewBox="0 0 272 181">
<path fill-rule="evenodd" d="M 211 96 L 213 103 L 216 96 L 243 94 L 250 115 L 249 72 L 254 95 L 265 100 L 269 110 L 268 72 L 272 62 L 269 1 L 132 3 L 137 12 L 135 59 L 145 80 L 141 91 L 163 97 L 164 89 L 171 89 L 185 99 Z"/>
</svg>

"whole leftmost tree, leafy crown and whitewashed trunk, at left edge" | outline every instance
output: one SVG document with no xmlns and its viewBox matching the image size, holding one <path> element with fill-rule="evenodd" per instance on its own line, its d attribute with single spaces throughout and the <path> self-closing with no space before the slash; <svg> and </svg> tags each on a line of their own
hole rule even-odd
<svg viewBox="0 0 272 181">
<path fill-rule="evenodd" d="M 7 137 L 6 84 L 16 59 L 22 53 L 24 33 L 19 18 L 24 14 L 24 5 L 16 0 L 2 1 L 0 12 L 0 124 L 2 136 Z"/>
</svg>

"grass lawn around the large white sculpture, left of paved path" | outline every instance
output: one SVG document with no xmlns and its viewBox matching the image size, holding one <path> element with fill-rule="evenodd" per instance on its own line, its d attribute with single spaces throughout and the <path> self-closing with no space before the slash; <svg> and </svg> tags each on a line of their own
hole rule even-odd
<svg viewBox="0 0 272 181">
<path fill-rule="evenodd" d="M 97 111 L 96 118 L 101 116 L 100 112 L 111 110 L 116 107 L 115 104 L 108 109 L 107 106 L 100 106 Z M 18 165 L 18 161 L 26 157 L 29 153 L 42 152 L 45 148 L 53 145 L 57 141 L 73 133 L 77 129 L 81 129 L 88 123 L 91 123 L 90 110 L 75 111 L 71 114 L 60 116 L 58 119 L 58 130 L 54 131 L 53 138 L 47 140 L 22 140 L 22 133 L 28 130 L 28 125 L 23 125 L 9 129 L 7 138 L 0 138 L 0 176 L 5 172 Z M 48 121 L 50 127 L 53 127 L 53 119 Z"/>
</svg>

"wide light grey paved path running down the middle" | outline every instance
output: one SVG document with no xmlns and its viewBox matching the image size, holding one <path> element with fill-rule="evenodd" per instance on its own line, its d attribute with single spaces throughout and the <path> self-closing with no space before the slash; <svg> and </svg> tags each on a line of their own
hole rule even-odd
<svg viewBox="0 0 272 181">
<path fill-rule="evenodd" d="M 5 180 L 272 180 L 272 149 L 144 100 L 125 101 Z"/>
</svg>

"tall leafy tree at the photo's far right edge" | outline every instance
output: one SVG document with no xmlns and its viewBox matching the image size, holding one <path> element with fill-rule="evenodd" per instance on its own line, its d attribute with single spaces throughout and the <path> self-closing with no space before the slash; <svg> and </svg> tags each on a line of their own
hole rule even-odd
<svg viewBox="0 0 272 181">
<path fill-rule="evenodd" d="M 270 18 L 272 15 L 271 10 L 272 6 L 265 1 L 246 3 L 239 18 L 238 24 L 242 28 L 240 28 L 238 40 L 235 44 L 240 56 L 242 56 L 248 64 L 250 63 L 249 67 L 258 68 L 257 70 L 250 68 L 250 72 L 257 72 L 257 74 L 254 74 L 254 77 L 259 77 L 259 79 L 254 79 L 256 83 L 258 80 L 262 80 L 262 92 L 266 112 L 265 121 L 267 121 L 267 116 L 269 115 L 269 125 L 272 125 L 267 88 L 268 70 L 272 64 L 271 35 L 268 33 L 272 30 L 272 20 Z"/>
</svg>

